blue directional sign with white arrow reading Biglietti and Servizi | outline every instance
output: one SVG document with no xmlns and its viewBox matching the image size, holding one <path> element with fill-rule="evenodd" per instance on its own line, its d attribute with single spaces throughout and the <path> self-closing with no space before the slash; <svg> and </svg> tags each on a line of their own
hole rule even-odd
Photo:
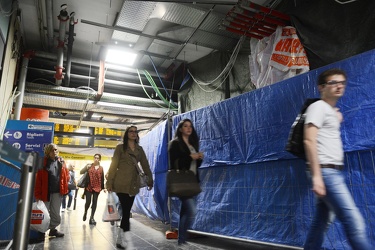
<svg viewBox="0 0 375 250">
<path fill-rule="evenodd" d="M 38 152 L 53 140 L 53 122 L 8 120 L 3 140 L 24 152 Z"/>
</svg>

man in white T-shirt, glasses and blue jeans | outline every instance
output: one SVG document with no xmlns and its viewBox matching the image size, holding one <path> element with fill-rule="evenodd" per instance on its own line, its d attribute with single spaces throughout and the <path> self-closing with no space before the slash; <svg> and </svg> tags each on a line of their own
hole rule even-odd
<svg viewBox="0 0 375 250">
<path fill-rule="evenodd" d="M 319 75 L 321 100 L 306 111 L 304 145 L 307 164 L 316 196 L 315 215 L 304 249 L 320 249 L 324 235 L 336 216 L 343 224 L 353 249 L 369 250 L 364 219 L 345 183 L 342 173 L 344 151 L 340 135 L 342 113 L 336 107 L 344 95 L 347 83 L 345 71 L 329 69 Z"/>
</svg>

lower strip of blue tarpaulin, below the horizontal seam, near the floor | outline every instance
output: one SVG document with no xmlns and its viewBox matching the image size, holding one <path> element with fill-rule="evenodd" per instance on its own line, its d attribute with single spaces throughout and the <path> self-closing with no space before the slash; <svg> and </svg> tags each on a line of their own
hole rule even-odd
<svg viewBox="0 0 375 250">
<path fill-rule="evenodd" d="M 375 246 L 375 150 L 345 155 L 344 175 Z M 302 247 L 314 213 L 314 195 L 302 160 L 204 168 L 193 229 Z M 177 210 L 178 212 L 178 210 Z M 351 249 L 342 225 L 329 228 L 324 249 Z"/>
</svg>

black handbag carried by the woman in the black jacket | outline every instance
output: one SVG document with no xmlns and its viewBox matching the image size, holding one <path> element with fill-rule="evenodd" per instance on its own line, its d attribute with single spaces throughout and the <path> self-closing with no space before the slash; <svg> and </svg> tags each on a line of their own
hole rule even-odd
<svg viewBox="0 0 375 250">
<path fill-rule="evenodd" d="M 171 197 L 192 197 L 202 192 L 198 179 L 191 170 L 169 170 L 167 189 Z"/>
</svg>

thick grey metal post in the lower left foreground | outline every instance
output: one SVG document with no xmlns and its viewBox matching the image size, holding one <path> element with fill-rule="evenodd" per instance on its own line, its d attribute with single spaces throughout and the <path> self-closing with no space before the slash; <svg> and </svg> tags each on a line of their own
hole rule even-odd
<svg viewBox="0 0 375 250">
<path fill-rule="evenodd" d="M 33 152 L 29 154 L 28 160 L 26 160 L 26 163 L 23 163 L 21 167 L 21 182 L 13 232 L 14 245 L 12 249 L 27 249 L 35 174 L 38 164 L 38 154 Z"/>
</svg>

